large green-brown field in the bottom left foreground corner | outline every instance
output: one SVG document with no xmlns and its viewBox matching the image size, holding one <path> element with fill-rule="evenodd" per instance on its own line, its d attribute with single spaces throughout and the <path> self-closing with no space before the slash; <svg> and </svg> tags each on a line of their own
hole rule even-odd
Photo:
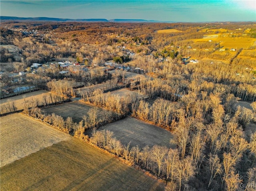
<svg viewBox="0 0 256 191">
<path fill-rule="evenodd" d="M 164 185 L 71 138 L 2 167 L 1 190 L 163 191 Z"/>
</svg>

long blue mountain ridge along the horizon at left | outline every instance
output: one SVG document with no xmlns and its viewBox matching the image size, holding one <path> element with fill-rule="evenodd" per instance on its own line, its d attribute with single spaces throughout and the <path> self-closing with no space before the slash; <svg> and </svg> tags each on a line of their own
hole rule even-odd
<svg viewBox="0 0 256 191">
<path fill-rule="evenodd" d="M 141 22 L 160 22 L 155 20 L 143 19 L 62 19 L 62 18 L 49 18 L 49 17 L 10 17 L 0 16 L 1 22 L 6 21 L 45 21 L 45 22 L 128 22 L 128 23 L 141 23 Z"/>
</svg>

